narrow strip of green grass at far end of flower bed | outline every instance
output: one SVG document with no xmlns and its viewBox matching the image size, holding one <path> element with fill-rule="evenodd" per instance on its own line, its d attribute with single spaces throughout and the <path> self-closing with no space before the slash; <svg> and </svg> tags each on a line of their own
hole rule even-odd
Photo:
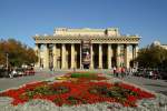
<svg viewBox="0 0 167 111">
<path fill-rule="evenodd" d="M 96 78 L 97 74 L 94 72 L 73 72 L 71 78 Z"/>
</svg>

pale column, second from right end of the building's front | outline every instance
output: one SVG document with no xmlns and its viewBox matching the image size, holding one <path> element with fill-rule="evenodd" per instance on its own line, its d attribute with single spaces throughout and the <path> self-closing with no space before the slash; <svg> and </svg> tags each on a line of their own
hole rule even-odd
<svg viewBox="0 0 167 111">
<path fill-rule="evenodd" d="M 125 60 L 125 67 L 126 68 L 129 68 L 130 65 L 129 65 L 129 62 L 130 62 L 130 59 L 129 59 L 129 44 L 125 44 L 124 46 L 124 48 L 125 48 L 125 58 L 124 58 L 124 60 Z"/>
</svg>

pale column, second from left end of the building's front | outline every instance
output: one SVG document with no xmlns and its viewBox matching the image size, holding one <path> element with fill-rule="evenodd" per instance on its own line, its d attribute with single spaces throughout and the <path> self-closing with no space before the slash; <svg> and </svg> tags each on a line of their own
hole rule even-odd
<svg viewBox="0 0 167 111">
<path fill-rule="evenodd" d="M 49 68 L 49 49 L 48 49 L 48 44 L 45 46 L 43 48 L 43 53 L 45 53 L 45 58 L 43 58 L 43 68 L 48 69 Z"/>
</svg>

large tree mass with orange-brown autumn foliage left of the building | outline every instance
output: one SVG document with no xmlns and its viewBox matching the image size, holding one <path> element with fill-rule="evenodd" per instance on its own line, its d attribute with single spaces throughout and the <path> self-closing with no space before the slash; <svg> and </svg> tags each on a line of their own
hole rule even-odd
<svg viewBox="0 0 167 111">
<path fill-rule="evenodd" d="M 35 54 L 33 49 L 28 48 L 20 41 L 14 39 L 0 41 L 0 64 L 4 64 L 8 53 L 9 65 L 21 67 L 22 64 L 36 63 L 38 58 Z"/>
</svg>

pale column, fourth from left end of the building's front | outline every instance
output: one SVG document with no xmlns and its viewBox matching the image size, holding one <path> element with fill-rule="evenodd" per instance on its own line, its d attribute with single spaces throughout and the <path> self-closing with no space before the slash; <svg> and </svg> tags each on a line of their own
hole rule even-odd
<svg viewBox="0 0 167 111">
<path fill-rule="evenodd" d="M 66 68 L 66 46 L 61 44 L 61 69 Z"/>
</svg>

